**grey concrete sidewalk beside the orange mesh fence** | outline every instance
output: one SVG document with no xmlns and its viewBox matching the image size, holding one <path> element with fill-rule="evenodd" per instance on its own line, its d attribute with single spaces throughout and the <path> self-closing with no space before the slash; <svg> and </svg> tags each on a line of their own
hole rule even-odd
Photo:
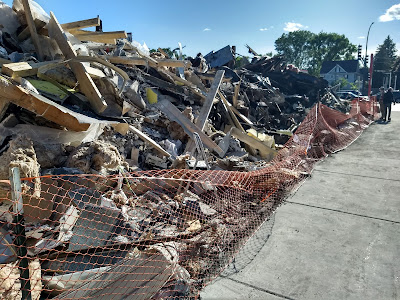
<svg viewBox="0 0 400 300">
<path fill-rule="evenodd" d="M 400 299 L 399 170 L 394 111 L 318 163 L 201 299 Z"/>
</svg>

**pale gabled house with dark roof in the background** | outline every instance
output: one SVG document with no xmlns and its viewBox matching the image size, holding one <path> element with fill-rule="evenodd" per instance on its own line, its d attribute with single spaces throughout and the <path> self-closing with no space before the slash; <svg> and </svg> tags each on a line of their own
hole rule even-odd
<svg viewBox="0 0 400 300">
<path fill-rule="evenodd" d="M 358 60 L 324 61 L 322 63 L 320 77 L 333 86 L 340 78 L 346 79 L 349 84 L 341 89 L 350 89 L 350 83 L 358 83 L 361 87 L 362 75 Z"/>
</svg>

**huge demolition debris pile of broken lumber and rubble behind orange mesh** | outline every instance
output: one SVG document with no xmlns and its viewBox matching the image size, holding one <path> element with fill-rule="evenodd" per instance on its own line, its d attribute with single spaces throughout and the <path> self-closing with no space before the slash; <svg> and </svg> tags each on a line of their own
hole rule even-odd
<svg viewBox="0 0 400 300">
<path fill-rule="evenodd" d="M 265 202 L 260 210 L 254 191 L 235 178 L 224 173 L 232 187 L 221 188 L 223 177 L 212 182 L 195 170 L 265 167 L 315 103 L 348 105 L 325 80 L 281 56 L 254 53 L 234 69 L 234 47 L 169 57 L 160 48 L 150 53 L 125 31 L 103 32 L 99 17 L 72 21 L 60 24 L 34 1 L 15 0 L 13 8 L 0 2 L 0 180 L 12 167 L 26 178 L 69 175 L 22 185 L 28 255 L 39 277 L 31 279 L 32 299 L 95 297 L 99 289 L 113 293 L 121 280 L 132 282 L 125 294 L 187 296 L 189 283 L 201 287 L 218 268 L 207 257 L 231 247 L 236 233 L 255 230 L 251 222 L 277 205 Z M 96 30 L 83 29 L 90 27 Z M 182 169 L 193 169 L 187 174 L 198 182 L 172 180 Z M 168 176 L 129 179 L 142 170 Z M 268 180 L 275 192 L 283 182 Z M 233 203 L 233 194 L 248 201 Z M 0 247 L 9 249 L 0 274 L 15 266 L 15 249 L 6 243 L 8 198 L 0 186 Z M 228 215 L 229 207 L 237 214 Z M 0 284 L 2 298 L 21 297 L 15 281 Z M 114 285 L 101 286 L 107 281 Z"/>
</svg>

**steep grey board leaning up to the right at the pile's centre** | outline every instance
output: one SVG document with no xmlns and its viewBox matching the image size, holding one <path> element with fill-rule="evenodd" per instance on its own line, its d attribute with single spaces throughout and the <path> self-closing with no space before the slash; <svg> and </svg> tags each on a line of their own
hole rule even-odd
<svg viewBox="0 0 400 300">
<path fill-rule="evenodd" d="M 214 81 L 211 85 L 210 90 L 207 93 L 206 100 L 204 101 L 203 107 L 200 110 L 200 115 L 196 120 L 196 125 L 200 128 L 200 130 L 203 132 L 204 127 L 206 125 L 208 116 L 210 115 L 212 105 L 214 103 L 214 98 L 217 95 L 219 86 L 221 85 L 222 78 L 224 78 L 225 71 L 224 70 L 219 70 L 217 74 L 215 75 Z M 187 145 L 185 152 L 192 152 L 194 149 L 194 141 L 193 139 L 190 140 Z"/>
</svg>

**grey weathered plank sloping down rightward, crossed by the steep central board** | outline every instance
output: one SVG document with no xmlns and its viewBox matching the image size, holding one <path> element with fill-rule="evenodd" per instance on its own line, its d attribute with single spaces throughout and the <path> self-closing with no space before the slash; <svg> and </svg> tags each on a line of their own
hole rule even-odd
<svg viewBox="0 0 400 300">
<path fill-rule="evenodd" d="M 182 112 L 171 102 L 168 100 L 162 100 L 156 105 L 164 114 L 168 116 L 171 121 L 178 123 L 191 138 L 193 138 L 193 133 L 198 133 L 200 139 L 204 143 L 204 146 L 211 151 L 215 151 L 221 157 L 224 155 L 224 151 L 216 143 L 214 143 L 214 141 L 208 135 L 206 135 L 202 129 L 200 129 L 200 127 L 196 126 L 188 118 L 186 118 Z"/>
</svg>

